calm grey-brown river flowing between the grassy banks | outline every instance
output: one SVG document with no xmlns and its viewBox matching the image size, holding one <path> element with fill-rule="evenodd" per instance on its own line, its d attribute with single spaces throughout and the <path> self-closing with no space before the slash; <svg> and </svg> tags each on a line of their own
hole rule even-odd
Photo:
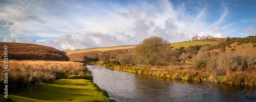
<svg viewBox="0 0 256 102">
<path fill-rule="evenodd" d="M 256 101 L 256 87 L 158 78 L 87 66 L 93 82 L 116 101 Z"/>
</svg>

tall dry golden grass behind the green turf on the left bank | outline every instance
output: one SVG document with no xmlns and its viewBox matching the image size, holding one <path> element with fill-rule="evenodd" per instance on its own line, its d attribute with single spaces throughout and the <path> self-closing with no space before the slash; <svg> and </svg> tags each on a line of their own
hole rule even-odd
<svg viewBox="0 0 256 102">
<path fill-rule="evenodd" d="M 4 70 L 4 61 L 0 61 L 0 70 Z M 91 79 L 92 74 L 79 62 L 67 61 L 8 61 L 8 87 L 12 89 L 25 87 L 27 83 L 49 83 L 55 79 L 67 79 L 70 75 Z M 1 90 L 4 86 L 4 71 L 0 72 Z"/>
</svg>

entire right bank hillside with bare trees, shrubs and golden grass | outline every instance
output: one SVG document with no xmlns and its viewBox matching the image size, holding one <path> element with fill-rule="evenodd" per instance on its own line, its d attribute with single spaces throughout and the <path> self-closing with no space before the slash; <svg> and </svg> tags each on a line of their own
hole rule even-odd
<svg viewBox="0 0 256 102">
<path fill-rule="evenodd" d="M 192 40 L 182 43 L 207 44 L 174 48 L 169 41 L 152 36 L 133 49 L 90 52 L 83 62 L 156 77 L 256 86 L 256 36 Z"/>
</svg>

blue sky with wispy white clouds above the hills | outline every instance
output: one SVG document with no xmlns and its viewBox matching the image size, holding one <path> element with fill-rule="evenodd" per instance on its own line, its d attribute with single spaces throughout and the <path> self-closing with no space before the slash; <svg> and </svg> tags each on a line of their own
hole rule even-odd
<svg viewBox="0 0 256 102">
<path fill-rule="evenodd" d="M 256 1 L 0 0 L 0 41 L 59 50 L 256 34 Z M 255 26 L 255 27 L 254 27 Z"/>
</svg>

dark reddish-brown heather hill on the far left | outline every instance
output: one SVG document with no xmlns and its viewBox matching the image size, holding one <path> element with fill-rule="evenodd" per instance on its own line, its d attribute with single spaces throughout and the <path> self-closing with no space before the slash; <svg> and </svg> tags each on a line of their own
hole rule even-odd
<svg viewBox="0 0 256 102">
<path fill-rule="evenodd" d="M 4 58 L 4 45 L 8 46 L 9 60 L 69 61 L 60 50 L 43 45 L 28 43 L 0 42 L 0 58 Z"/>
</svg>

